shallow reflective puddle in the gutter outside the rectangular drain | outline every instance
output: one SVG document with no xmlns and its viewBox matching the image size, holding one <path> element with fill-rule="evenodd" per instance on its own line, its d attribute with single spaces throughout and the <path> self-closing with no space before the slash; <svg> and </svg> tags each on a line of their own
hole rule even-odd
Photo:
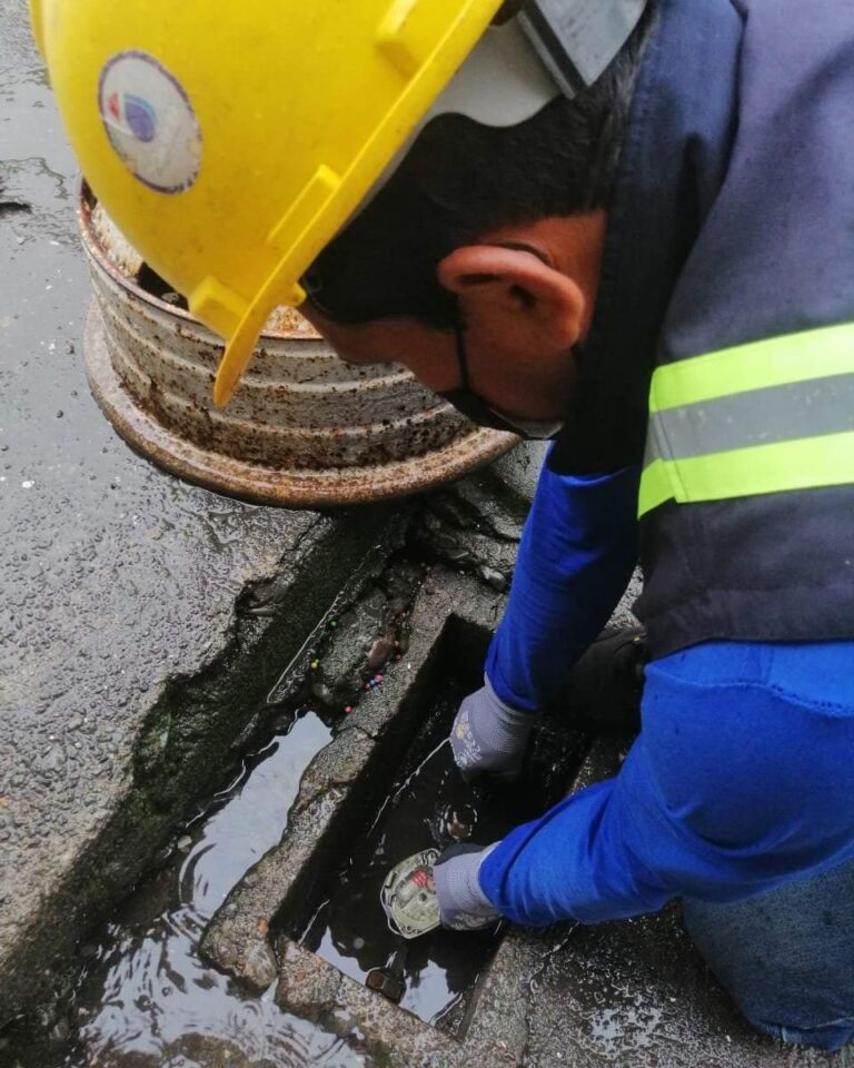
<svg viewBox="0 0 854 1068">
<path fill-rule="evenodd" d="M 59 1025 L 73 1048 L 38 1068 L 325 1068 L 361 1066 L 344 1039 L 252 997 L 199 959 L 205 926 L 230 889 L 278 842 L 300 777 L 329 741 L 308 712 L 244 767 L 216 811 L 178 840 L 179 862 L 147 880 L 98 942 L 85 948 L 73 1007 Z M 23 1047 L 22 1047 L 23 1049 Z M 8 1052 L 8 1050 L 7 1050 Z M 11 1061 L 14 1064 L 14 1058 Z"/>
</svg>

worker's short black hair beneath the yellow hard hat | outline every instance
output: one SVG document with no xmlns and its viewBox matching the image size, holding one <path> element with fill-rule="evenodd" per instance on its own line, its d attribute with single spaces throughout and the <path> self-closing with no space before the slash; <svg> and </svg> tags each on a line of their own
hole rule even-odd
<svg viewBox="0 0 854 1068">
<path fill-rule="evenodd" d="M 593 87 L 526 122 L 433 119 L 307 274 L 319 308 L 341 322 L 407 315 L 450 328 L 456 300 L 436 268 L 455 248 L 498 226 L 606 207 L 651 22 L 647 10 Z"/>
</svg>

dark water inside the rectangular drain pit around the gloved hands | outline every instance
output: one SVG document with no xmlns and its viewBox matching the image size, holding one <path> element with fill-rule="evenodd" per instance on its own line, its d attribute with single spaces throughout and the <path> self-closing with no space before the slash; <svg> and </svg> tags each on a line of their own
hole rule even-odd
<svg viewBox="0 0 854 1068">
<path fill-rule="evenodd" d="M 429 724 L 373 822 L 358 835 L 359 846 L 327 886 L 319 908 L 295 932 L 306 949 L 359 982 L 375 969 L 385 970 L 389 987 L 399 992 L 403 983 L 401 1008 L 451 1034 L 465 1024 L 468 995 L 497 949 L 500 928 L 465 934 L 437 930 L 408 941 L 388 926 L 380 904 L 383 882 L 389 869 L 420 850 L 441 850 L 466 839 L 490 844 L 554 797 L 549 777 L 534 768 L 523 790 L 475 790 L 465 782 L 450 745 L 441 740 L 467 692 L 453 684 L 441 688 Z"/>
</svg>

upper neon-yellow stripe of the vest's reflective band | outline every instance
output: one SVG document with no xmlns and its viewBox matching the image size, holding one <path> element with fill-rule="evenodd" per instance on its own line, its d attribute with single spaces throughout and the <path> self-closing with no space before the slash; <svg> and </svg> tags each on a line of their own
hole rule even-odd
<svg viewBox="0 0 854 1068">
<path fill-rule="evenodd" d="M 774 337 L 658 367 L 649 411 L 854 372 L 854 323 Z"/>
</svg>

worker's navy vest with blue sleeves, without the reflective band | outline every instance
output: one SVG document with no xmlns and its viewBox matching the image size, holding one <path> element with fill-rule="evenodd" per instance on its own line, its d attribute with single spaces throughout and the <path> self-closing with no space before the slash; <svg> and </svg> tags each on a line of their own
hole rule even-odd
<svg viewBox="0 0 854 1068">
<path fill-rule="evenodd" d="M 625 589 L 656 362 L 854 319 L 852 101 L 850 0 L 662 0 L 582 395 L 487 662 L 507 703 L 550 701 Z M 854 850 L 854 642 L 827 641 L 854 639 L 854 494 L 666 504 L 642 526 L 644 731 L 619 775 L 484 863 L 522 922 L 734 900 Z"/>
</svg>

